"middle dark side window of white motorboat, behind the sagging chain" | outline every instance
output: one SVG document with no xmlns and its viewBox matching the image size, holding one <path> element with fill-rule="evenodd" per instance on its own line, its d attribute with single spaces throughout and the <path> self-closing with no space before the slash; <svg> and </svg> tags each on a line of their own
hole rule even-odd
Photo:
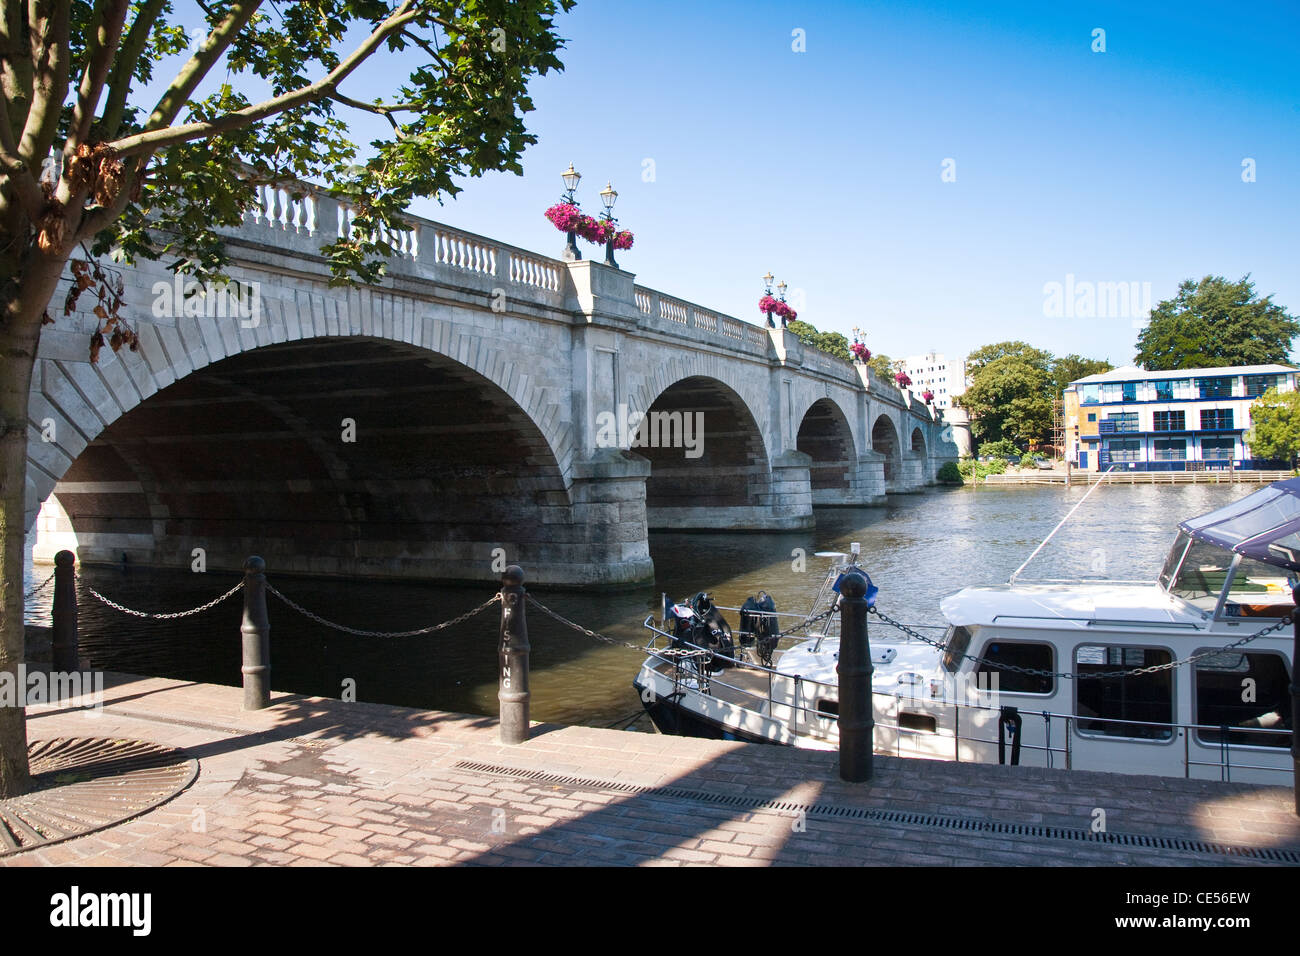
<svg viewBox="0 0 1300 956">
<path fill-rule="evenodd" d="M 1084 736 L 1171 740 L 1174 728 L 1174 675 L 1171 671 L 1126 678 L 1096 679 L 1089 674 L 1117 674 L 1154 667 L 1173 658 L 1165 648 L 1084 645 L 1074 652 L 1075 724 Z M 1136 721 L 1138 723 L 1122 723 Z M 1152 723 L 1147 723 L 1150 721 Z M 1161 726 L 1164 724 L 1164 726 Z"/>
</svg>

